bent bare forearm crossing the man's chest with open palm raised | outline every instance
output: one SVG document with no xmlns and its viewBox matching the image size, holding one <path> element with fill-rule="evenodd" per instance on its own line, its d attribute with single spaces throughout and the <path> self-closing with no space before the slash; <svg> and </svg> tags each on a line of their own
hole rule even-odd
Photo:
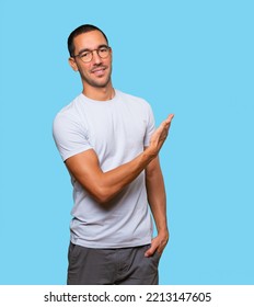
<svg viewBox="0 0 254 307">
<path fill-rule="evenodd" d="M 164 144 L 171 120 L 170 115 L 151 137 L 147 149 L 131 160 L 111 171 L 103 172 L 97 156 L 90 149 L 66 160 L 66 166 L 76 180 L 101 204 L 107 203 L 158 156 Z"/>
</svg>

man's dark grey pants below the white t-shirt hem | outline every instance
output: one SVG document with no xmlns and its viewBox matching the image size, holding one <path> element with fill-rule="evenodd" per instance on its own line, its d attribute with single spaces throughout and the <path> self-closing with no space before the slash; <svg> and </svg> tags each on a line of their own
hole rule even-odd
<svg viewBox="0 0 254 307">
<path fill-rule="evenodd" d="M 160 255 L 146 258 L 150 246 L 91 249 L 70 242 L 68 285 L 158 285 Z"/>
</svg>

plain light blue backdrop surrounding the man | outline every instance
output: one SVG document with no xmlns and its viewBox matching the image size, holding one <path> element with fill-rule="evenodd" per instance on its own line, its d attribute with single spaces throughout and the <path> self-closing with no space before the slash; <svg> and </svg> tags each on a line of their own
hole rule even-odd
<svg viewBox="0 0 254 307">
<path fill-rule="evenodd" d="M 107 34 L 115 88 L 159 124 L 171 240 L 161 284 L 254 284 L 254 2 L 1 1 L 0 284 L 65 284 L 72 206 L 51 138 L 81 91 L 66 39 Z"/>
</svg>

